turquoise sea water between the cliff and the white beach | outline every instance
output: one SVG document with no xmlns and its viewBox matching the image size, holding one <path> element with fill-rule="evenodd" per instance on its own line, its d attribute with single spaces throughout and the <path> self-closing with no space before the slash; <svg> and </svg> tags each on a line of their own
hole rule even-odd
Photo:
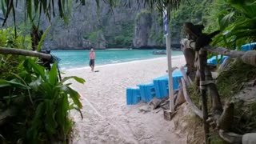
<svg viewBox="0 0 256 144">
<path fill-rule="evenodd" d="M 95 66 L 118 62 L 130 62 L 135 60 L 161 58 L 166 55 L 154 55 L 154 50 L 95 50 Z M 89 66 L 90 50 L 52 50 L 58 58 L 61 58 L 61 69 L 70 69 Z M 181 51 L 173 51 L 172 55 L 182 55 Z"/>
</svg>

